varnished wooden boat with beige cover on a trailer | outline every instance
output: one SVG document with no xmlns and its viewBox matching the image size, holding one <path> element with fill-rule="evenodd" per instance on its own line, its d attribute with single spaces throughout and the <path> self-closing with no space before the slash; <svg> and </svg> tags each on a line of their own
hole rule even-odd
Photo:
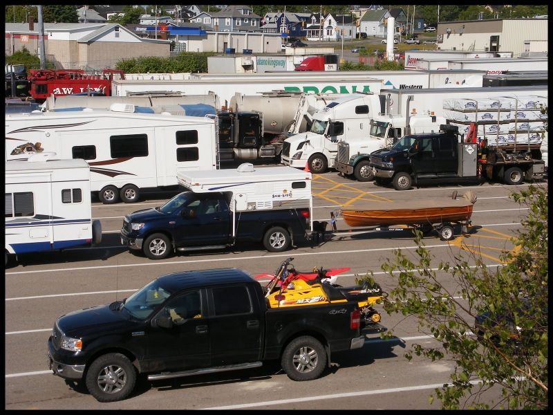
<svg viewBox="0 0 553 415">
<path fill-rule="evenodd" d="M 456 195 L 455 195 L 456 196 Z M 460 199 L 404 201 L 390 208 L 342 210 L 344 221 L 355 226 L 426 225 L 469 221 L 476 202 L 474 192 Z"/>
</svg>

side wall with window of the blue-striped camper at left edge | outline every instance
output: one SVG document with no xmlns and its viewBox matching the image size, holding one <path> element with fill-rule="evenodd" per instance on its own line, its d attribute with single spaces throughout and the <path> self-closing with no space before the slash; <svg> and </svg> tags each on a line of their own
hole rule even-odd
<svg viewBox="0 0 553 415">
<path fill-rule="evenodd" d="M 17 254 L 50 250 L 54 242 L 51 173 L 10 175 L 6 182 L 6 245 Z"/>
</svg>

